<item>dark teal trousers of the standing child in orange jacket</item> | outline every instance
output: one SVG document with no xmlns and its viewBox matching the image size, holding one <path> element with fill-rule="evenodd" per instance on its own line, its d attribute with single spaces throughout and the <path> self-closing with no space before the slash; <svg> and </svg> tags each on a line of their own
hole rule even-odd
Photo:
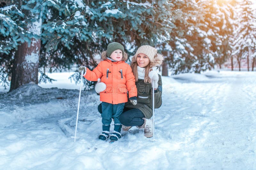
<svg viewBox="0 0 256 170">
<path fill-rule="evenodd" d="M 102 102 L 102 124 L 109 125 L 112 122 L 112 117 L 114 118 L 115 124 L 121 124 L 119 121 L 120 115 L 123 113 L 124 110 L 124 103 L 119 104 L 111 104 Z"/>
</svg>

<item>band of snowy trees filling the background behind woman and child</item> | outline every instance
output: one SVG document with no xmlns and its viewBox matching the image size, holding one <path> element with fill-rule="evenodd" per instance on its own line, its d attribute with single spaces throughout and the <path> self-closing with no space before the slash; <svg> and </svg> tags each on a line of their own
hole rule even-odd
<svg viewBox="0 0 256 170">
<path fill-rule="evenodd" d="M 46 72 L 68 70 L 74 64 L 92 69 L 100 52 L 113 41 L 122 43 L 130 56 L 141 45 L 155 46 L 165 56 L 163 75 L 168 70 L 171 74 L 200 73 L 221 67 L 227 60 L 240 64 L 242 59 L 248 61 L 248 71 L 253 70 L 254 3 L 1 0 L 1 85 L 10 85 L 12 90 L 31 81 L 53 81 Z M 77 81 L 78 72 L 70 79 Z"/>
</svg>

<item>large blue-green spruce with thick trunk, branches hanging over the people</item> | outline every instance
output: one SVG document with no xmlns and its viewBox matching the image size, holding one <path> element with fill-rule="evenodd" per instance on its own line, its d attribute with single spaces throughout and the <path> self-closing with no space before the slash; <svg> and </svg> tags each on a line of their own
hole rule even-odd
<svg viewBox="0 0 256 170">
<path fill-rule="evenodd" d="M 113 41 L 129 44 L 129 49 L 142 44 L 155 46 L 159 39 L 168 36 L 170 26 L 164 21 L 172 14 L 172 4 L 31 0 L 21 4 L 8 1 L 1 11 L 1 37 L 11 48 L 9 44 L 3 45 L 0 53 L 10 56 L 3 67 L 12 70 L 12 90 L 31 81 L 37 83 L 38 67 L 43 68 L 39 70 L 41 75 L 45 75 L 46 67 L 69 69 L 74 63 L 92 69 L 96 65 L 94 58 Z"/>
</svg>

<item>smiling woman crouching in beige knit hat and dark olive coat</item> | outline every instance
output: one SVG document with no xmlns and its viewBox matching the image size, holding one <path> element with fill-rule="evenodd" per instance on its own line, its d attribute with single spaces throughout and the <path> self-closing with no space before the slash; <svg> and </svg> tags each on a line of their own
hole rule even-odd
<svg viewBox="0 0 256 170">
<path fill-rule="evenodd" d="M 161 66 L 163 60 L 163 56 L 157 53 L 157 49 L 152 46 L 140 46 L 133 56 L 131 67 L 137 87 L 137 105 L 133 105 L 130 101 L 125 103 L 124 111 L 119 118 L 124 131 L 128 131 L 132 126 L 137 126 L 144 128 L 145 137 L 153 136 L 152 86 L 157 109 L 162 105 L 162 79 L 161 75 L 151 68 Z M 154 84 L 151 84 L 151 80 L 154 80 Z M 99 105 L 99 112 L 101 112 L 100 107 Z"/>
</svg>

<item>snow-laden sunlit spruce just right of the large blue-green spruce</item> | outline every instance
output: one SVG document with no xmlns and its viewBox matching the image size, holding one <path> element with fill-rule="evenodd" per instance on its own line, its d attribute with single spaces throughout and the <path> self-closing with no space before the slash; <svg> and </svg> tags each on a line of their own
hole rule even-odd
<svg viewBox="0 0 256 170">
<path fill-rule="evenodd" d="M 167 58 L 173 74 L 197 72 L 213 66 L 214 58 L 210 47 L 212 41 L 208 33 L 216 30 L 207 15 L 211 15 L 210 1 L 172 1 L 182 15 L 173 20 L 174 27 L 170 33 L 170 41 L 163 49 L 170 54 Z M 200 11 L 200 12 L 199 12 Z M 209 17 L 211 18 L 211 17 Z"/>
</svg>

